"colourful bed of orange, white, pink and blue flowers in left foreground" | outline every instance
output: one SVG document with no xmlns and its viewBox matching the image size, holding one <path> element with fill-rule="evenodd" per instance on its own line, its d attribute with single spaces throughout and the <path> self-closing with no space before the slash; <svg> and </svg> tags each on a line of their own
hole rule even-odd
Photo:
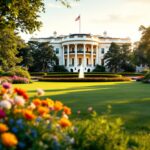
<svg viewBox="0 0 150 150">
<path fill-rule="evenodd" d="M 54 149 L 69 147 L 67 128 L 72 126 L 71 109 L 60 101 L 40 99 L 38 90 L 30 101 L 19 88 L 3 83 L 0 101 L 0 149 Z M 58 145 L 57 145 L 58 144 Z M 67 146 L 66 146 L 67 145 Z"/>
</svg>

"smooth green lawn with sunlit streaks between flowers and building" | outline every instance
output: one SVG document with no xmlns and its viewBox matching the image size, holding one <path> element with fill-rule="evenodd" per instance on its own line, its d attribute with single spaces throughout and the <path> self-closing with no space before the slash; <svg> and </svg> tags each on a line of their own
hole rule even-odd
<svg viewBox="0 0 150 150">
<path fill-rule="evenodd" d="M 84 115 L 90 106 L 101 114 L 110 104 L 111 115 L 123 118 L 128 129 L 150 129 L 149 84 L 35 82 L 15 86 L 26 89 L 30 96 L 35 94 L 37 88 L 42 88 L 46 92 L 46 97 L 61 100 L 72 108 L 74 114 L 81 110 L 81 114 Z"/>
</svg>

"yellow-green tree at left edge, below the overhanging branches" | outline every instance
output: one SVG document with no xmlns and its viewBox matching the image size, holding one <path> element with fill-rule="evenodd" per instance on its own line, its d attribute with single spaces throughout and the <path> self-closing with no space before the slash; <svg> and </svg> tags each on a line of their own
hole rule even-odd
<svg viewBox="0 0 150 150">
<path fill-rule="evenodd" d="M 16 57 L 18 49 L 24 46 L 23 40 L 11 29 L 0 30 L 0 65 L 4 71 L 8 71 L 17 63 L 20 63 L 21 57 Z"/>
</svg>

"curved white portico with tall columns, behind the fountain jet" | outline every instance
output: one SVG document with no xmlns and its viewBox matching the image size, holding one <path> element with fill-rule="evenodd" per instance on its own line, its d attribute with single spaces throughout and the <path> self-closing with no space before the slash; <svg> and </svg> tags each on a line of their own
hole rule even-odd
<svg viewBox="0 0 150 150">
<path fill-rule="evenodd" d="M 63 44 L 63 65 L 69 71 L 78 72 L 80 65 L 84 71 L 91 71 L 98 64 L 98 43 L 67 43 Z"/>
</svg>

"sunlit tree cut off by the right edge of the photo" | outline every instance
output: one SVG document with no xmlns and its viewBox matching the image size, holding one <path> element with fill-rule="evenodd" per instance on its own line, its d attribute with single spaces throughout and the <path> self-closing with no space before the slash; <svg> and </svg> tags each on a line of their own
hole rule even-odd
<svg viewBox="0 0 150 150">
<path fill-rule="evenodd" d="M 142 32 L 142 37 L 135 47 L 135 59 L 137 65 L 147 65 L 150 67 L 150 26 L 141 26 L 139 29 Z"/>
</svg>

